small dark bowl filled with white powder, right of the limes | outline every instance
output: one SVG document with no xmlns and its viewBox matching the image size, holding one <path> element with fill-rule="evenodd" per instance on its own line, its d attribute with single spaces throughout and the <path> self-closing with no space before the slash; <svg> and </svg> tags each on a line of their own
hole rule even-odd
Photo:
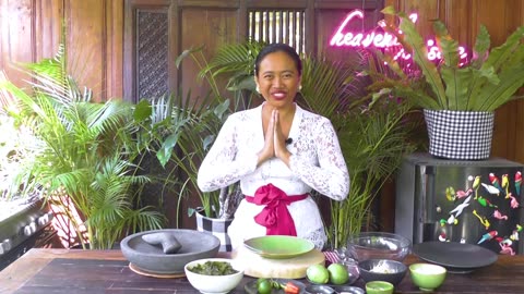
<svg viewBox="0 0 524 294">
<path fill-rule="evenodd" d="M 406 275 L 407 267 L 401 261 L 392 259 L 367 259 L 358 262 L 360 278 L 367 283 L 385 281 L 397 285 Z"/>
</svg>

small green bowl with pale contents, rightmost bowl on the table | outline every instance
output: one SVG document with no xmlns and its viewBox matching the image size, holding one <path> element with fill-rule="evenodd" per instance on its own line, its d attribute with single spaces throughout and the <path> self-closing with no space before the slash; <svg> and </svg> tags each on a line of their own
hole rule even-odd
<svg viewBox="0 0 524 294">
<path fill-rule="evenodd" d="M 421 291 L 433 291 L 445 280 L 448 270 L 432 264 L 413 264 L 409 266 L 409 275 L 415 285 Z"/>
</svg>

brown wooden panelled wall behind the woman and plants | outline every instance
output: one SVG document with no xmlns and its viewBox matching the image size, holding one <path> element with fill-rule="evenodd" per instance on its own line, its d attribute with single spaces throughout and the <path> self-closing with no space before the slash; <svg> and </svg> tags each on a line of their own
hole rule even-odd
<svg viewBox="0 0 524 294">
<path fill-rule="evenodd" d="M 429 20 L 443 20 L 461 44 L 474 44 L 478 25 L 488 27 L 493 45 L 500 45 L 517 26 L 524 25 L 522 0 L 0 0 L 0 66 L 17 84 L 24 75 L 17 62 L 51 57 L 60 39 L 61 20 L 68 24 L 67 42 L 73 75 L 94 89 L 98 100 L 131 99 L 136 69 L 134 26 L 136 9 L 167 13 L 168 86 L 199 88 L 196 68 L 174 69 L 174 58 L 183 49 L 205 44 L 211 57 L 222 44 L 243 40 L 248 8 L 303 8 L 306 49 L 332 59 L 343 59 L 343 50 L 327 46 L 342 17 L 354 8 L 365 9 L 364 26 L 373 27 L 381 19 L 377 7 L 418 11 L 418 26 L 430 34 Z M 202 91 L 204 89 L 201 89 Z M 524 162 L 524 100 L 497 111 L 492 155 Z M 391 189 L 386 194 L 391 194 Z M 393 197 L 384 197 L 390 200 Z M 394 201 L 393 201 L 394 204 Z M 385 204 L 388 205 L 388 204 Z M 384 220 L 384 230 L 389 230 Z"/>
</svg>

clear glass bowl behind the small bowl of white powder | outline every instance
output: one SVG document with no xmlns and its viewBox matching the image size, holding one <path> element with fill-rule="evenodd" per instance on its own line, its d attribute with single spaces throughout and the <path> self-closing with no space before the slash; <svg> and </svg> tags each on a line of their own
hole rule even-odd
<svg viewBox="0 0 524 294">
<path fill-rule="evenodd" d="M 364 232 L 347 238 L 347 254 L 358 260 L 392 259 L 403 261 L 412 250 L 412 241 L 398 234 Z"/>
</svg>

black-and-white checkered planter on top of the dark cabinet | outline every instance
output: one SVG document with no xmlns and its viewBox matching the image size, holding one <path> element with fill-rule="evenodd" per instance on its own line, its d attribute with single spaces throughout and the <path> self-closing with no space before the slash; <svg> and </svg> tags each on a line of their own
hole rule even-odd
<svg viewBox="0 0 524 294">
<path fill-rule="evenodd" d="M 424 110 L 429 154 L 446 159 L 489 158 L 495 112 Z"/>
</svg>

